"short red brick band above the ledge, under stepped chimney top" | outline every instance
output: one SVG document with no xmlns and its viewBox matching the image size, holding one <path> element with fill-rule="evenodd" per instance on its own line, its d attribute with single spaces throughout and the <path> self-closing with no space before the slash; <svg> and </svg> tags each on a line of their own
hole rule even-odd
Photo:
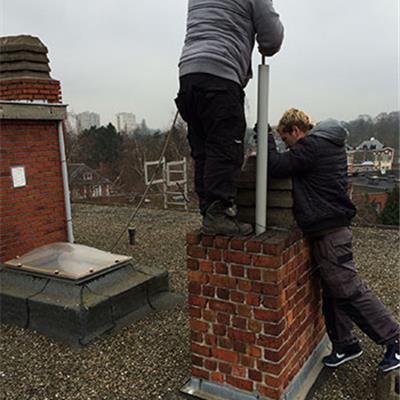
<svg viewBox="0 0 400 400">
<path fill-rule="evenodd" d="M 60 82 L 54 79 L 7 79 L 0 81 L 0 100 L 61 103 Z"/>
</svg>

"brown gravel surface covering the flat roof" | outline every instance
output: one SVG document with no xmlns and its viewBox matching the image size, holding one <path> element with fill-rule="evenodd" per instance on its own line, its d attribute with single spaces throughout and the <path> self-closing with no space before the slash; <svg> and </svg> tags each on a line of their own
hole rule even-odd
<svg viewBox="0 0 400 400">
<path fill-rule="evenodd" d="M 131 212 L 129 207 L 74 205 L 76 241 L 109 250 Z M 141 210 L 133 224 L 137 244 L 129 246 L 124 237 L 114 252 L 168 270 L 172 290 L 186 296 L 185 233 L 199 223 L 193 213 Z M 355 228 L 354 234 L 361 276 L 398 317 L 399 233 Z M 313 399 L 374 398 L 382 349 L 359 335 L 362 358 L 332 373 Z M 79 351 L 32 331 L 3 326 L 0 352 L 0 399 L 163 399 L 190 376 L 187 307 L 183 303 L 154 313 Z"/>
</svg>

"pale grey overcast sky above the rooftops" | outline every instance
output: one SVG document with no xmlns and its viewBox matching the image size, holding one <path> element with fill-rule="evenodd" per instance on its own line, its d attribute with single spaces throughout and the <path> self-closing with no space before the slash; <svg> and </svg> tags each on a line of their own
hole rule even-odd
<svg viewBox="0 0 400 400">
<path fill-rule="evenodd" d="M 167 128 L 178 88 L 186 0 L 0 0 L 2 35 L 39 36 L 70 110 L 114 122 L 133 112 Z M 399 109 L 398 0 L 275 0 L 285 26 L 271 64 L 270 119 L 290 107 L 316 120 Z M 260 57 L 254 52 L 254 71 Z M 246 88 L 256 119 L 256 77 Z"/>
</svg>

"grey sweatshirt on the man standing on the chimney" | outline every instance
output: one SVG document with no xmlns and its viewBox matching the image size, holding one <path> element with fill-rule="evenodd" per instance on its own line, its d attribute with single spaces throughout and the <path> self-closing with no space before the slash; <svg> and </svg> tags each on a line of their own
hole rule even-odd
<svg viewBox="0 0 400 400">
<path fill-rule="evenodd" d="M 189 0 L 179 75 L 206 73 L 245 87 L 255 40 L 271 56 L 281 47 L 283 26 L 271 0 Z"/>
</svg>

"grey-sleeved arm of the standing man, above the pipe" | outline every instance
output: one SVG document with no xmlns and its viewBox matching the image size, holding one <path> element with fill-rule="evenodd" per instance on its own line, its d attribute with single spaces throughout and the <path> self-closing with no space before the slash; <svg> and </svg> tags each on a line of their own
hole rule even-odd
<svg viewBox="0 0 400 400">
<path fill-rule="evenodd" d="M 281 48 L 284 29 L 272 0 L 253 0 L 253 23 L 260 53 L 273 56 Z"/>
</svg>

